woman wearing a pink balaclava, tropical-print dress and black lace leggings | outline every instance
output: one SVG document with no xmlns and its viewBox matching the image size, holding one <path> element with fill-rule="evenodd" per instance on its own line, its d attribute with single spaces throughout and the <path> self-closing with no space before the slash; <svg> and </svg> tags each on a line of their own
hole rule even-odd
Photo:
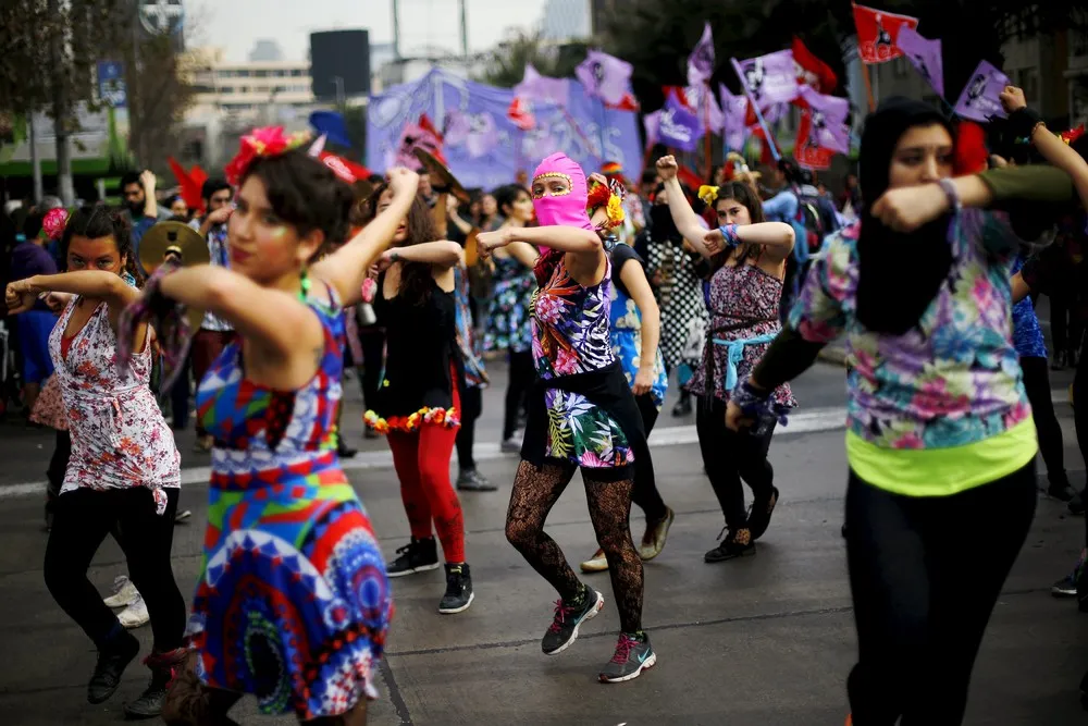
<svg viewBox="0 0 1088 726">
<path fill-rule="evenodd" d="M 581 167 L 562 153 L 549 156 L 533 174 L 532 194 L 540 226 L 509 226 L 478 237 L 484 256 L 508 245 L 541 251 L 531 306 L 539 380 L 529 395 L 506 537 L 559 592 L 555 620 L 541 642 L 546 654 L 559 653 L 604 606 L 602 594 L 578 579 L 559 545 L 544 533 L 548 512 L 581 468 L 622 630 L 599 678 L 631 680 L 657 662 L 642 631 L 642 561 L 628 527 L 632 463 L 648 451 L 642 417 L 608 339 L 611 266 L 585 213 Z"/>
</svg>

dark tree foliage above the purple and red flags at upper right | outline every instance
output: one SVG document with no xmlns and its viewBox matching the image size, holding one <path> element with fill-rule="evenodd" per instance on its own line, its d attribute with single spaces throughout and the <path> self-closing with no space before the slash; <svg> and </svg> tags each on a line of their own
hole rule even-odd
<svg viewBox="0 0 1088 726">
<path fill-rule="evenodd" d="M 1085 29 L 1088 0 L 1028 4 L 1016 0 L 873 0 L 889 12 L 920 20 L 926 37 L 943 38 L 944 85 L 959 89 L 980 60 L 1001 64 L 1001 46 L 1016 36 Z M 634 65 L 632 83 L 643 108 L 664 101 L 662 86 L 685 83 L 685 61 L 710 22 L 717 50 L 715 84 L 733 90 L 739 82 L 728 58 L 751 58 L 781 50 L 799 35 L 808 48 L 844 77 L 841 47 L 854 33 L 848 2 L 823 0 L 627 0 L 623 12 L 602 28 L 605 49 Z"/>
</svg>

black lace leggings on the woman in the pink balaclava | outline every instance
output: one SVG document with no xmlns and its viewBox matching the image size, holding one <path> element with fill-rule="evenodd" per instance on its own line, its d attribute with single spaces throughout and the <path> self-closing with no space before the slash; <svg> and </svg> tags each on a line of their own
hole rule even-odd
<svg viewBox="0 0 1088 726">
<path fill-rule="evenodd" d="M 514 478 L 510 508 L 506 514 L 506 539 L 565 601 L 578 595 L 581 582 L 567 564 L 562 550 L 544 532 L 544 520 L 577 468 L 560 462 L 549 462 L 537 468 L 522 462 Z M 642 629 L 642 559 L 628 526 L 631 479 L 595 478 L 593 469 L 583 468 L 582 481 L 597 544 L 608 559 L 620 627 L 623 632 L 636 632 Z"/>
</svg>

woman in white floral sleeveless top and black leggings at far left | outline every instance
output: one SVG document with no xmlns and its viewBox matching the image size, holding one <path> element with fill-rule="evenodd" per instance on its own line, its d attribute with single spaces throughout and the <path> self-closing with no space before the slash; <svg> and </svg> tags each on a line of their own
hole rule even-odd
<svg viewBox="0 0 1088 726">
<path fill-rule="evenodd" d="M 49 336 L 71 454 L 46 545 L 46 586 L 98 648 L 87 700 L 102 703 L 121 685 L 139 641 L 102 602 L 87 568 L 109 532 L 118 527 L 124 532 L 119 542 L 154 636 L 145 661 L 151 682 L 125 713 L 150 718 L 161 711 L 166 684 L 185 653 L 185 601 L 170 564 L 181 456 L 149 387 L 147 325 L 131 335 L 135 355 L 116 364 L 119 318 L 139 296 L 127 221 L 106 207 L 79 209 L 67 220 L 61 249 L 69 272 L 35 275 L 7 291 L 13 312 L 32 309 L 41 293 L 74 296 Z"/>
</svg>

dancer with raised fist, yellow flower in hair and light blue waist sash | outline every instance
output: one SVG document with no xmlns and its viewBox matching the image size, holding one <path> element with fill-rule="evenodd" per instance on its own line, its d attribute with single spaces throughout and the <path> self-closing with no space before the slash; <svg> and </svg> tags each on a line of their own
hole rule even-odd
<svg viewBox="0 0 1088 726">
<path fill-rule="evenodd" d="M 767 460 L 774 427 L 756 438 L 739 436 L 726 429 L 726 404 L 781 330 L 779 305 L 794 232 L 784 222 L 765 222 L 759 198 L 741 182 L 708 187 L 707 201 L 720 226 L 707 231 L 681 193 L 676 160 L 663 157 L 657 171 L 677 227 L 715 268 L 703 361 L 689 390 L 698 396 L 695 430 L 703 466 L 726 517 L 725 538 L 719 534 L 721 543 L 703 558 L 726 562 L 755 554 L 755 541 L 767 531 L 778 504 L 775 470 Z M 775 401 L 796 406 L 789 385 L 775 391 Z M 752 488 L 749 510 L 741 480 Z"/>
</svg>

